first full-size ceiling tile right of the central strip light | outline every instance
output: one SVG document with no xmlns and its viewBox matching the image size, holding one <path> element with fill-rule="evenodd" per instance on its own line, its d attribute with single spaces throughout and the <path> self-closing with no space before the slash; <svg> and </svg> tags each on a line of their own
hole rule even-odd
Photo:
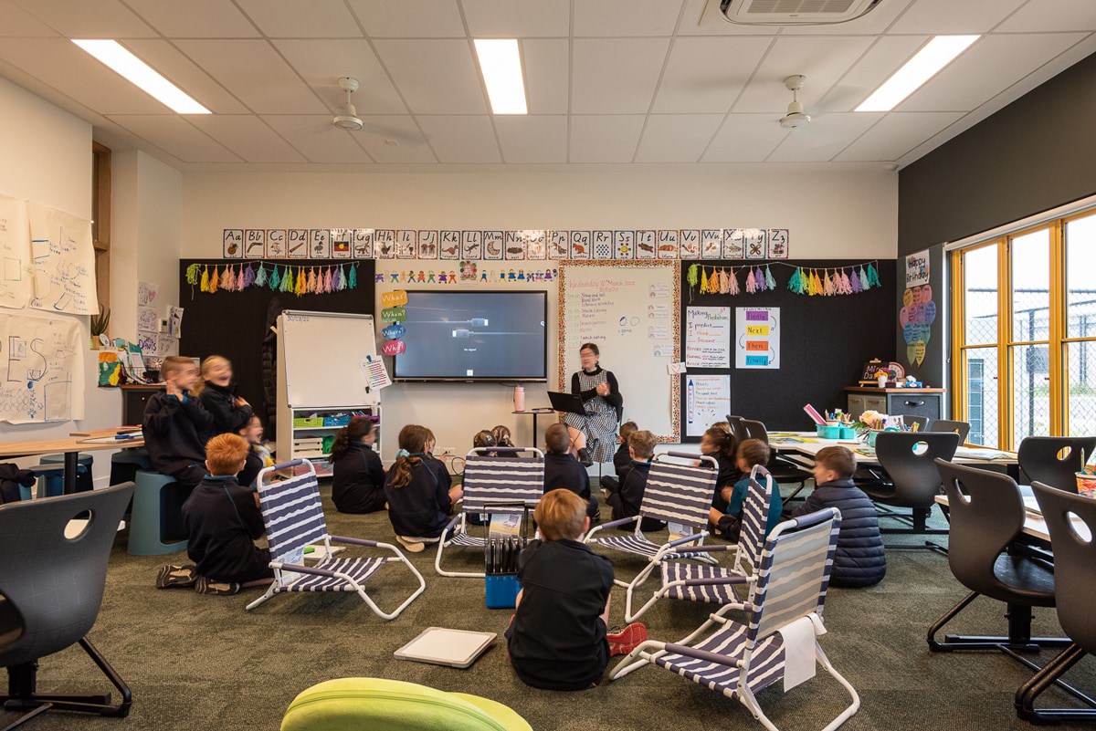
<svg viewBox="0 0 1096 731">
<path fill-rule="evenodd" d="M 669 38 L 574 40 L 571 112 L 646 114 Z"/>
</svg>

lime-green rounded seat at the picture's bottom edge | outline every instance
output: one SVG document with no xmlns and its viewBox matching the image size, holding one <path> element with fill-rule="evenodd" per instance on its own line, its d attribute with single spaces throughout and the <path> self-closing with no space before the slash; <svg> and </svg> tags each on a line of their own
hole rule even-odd
<svg viewBox="0 0 1096 731">
<path fill-rule="evenodd" d="M 342 677 L 304 691 L 282 731 L 533 731 L 506 706 L 380 677 Z"/>
</svg>

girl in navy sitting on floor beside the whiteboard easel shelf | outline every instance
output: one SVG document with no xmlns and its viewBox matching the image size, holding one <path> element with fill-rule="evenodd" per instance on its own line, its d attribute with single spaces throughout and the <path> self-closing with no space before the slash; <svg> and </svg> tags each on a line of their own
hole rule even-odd
<svg viewBox="0 0 1096 731">
<path fill-rule="evenodd" d="M 341 513 L 372 513 L 385 509 L 385 466 L 373 451 L 376 425 L 354 417 L 335 433 L 331 445 L 331 500 Z"/>
</svg>

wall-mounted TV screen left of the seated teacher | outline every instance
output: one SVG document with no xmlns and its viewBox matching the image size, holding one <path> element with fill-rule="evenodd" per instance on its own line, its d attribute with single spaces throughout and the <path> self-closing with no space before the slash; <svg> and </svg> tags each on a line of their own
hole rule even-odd
<svg viewBox="0 0 1096 731">
<path fill-rule="evenodd" d="M 409 291 L 398 381 L 547 381 L 547 292 Z"/>
</svg>

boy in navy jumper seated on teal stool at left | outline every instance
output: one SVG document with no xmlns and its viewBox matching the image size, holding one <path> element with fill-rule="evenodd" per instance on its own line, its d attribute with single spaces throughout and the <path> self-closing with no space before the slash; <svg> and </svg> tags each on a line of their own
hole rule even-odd
<svg viewBox="0 0 1096 731">
<path fill-rule="evenodd" d="M 189 393 L 198 367 L 190 358 L 170 356 L 163 359 L 160 375 L 163 390 L 145 404 L 145 446 L 158 473 L 193 488 L 205 477 L 205 443 L 213 430 L 213 417 Z"/>
</svg>

